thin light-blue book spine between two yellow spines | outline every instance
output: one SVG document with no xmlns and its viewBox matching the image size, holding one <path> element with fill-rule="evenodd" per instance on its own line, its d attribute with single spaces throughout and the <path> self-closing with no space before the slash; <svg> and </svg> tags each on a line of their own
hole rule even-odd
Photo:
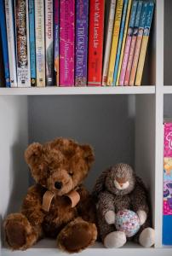
<svg viewBox="0 0 172 256">
<path fill-rule="evenodd" d="M 123 17 L 122 17 L 122 21 L 121 21 L 121 28 L 120 28 L 119 41 L 118 41 L 118 51 L 117 51 L 115 68 L 114 68 L 114 73 L 113 73 L 113 85 L 116 85 L 116 80 L 117 80 L 117 75 L 118 75 L 118 65 L 119 65 L 119 58 L 120 58 L 120 54 L 121 54 L 121 46 L 123 43 L 123 31 L 124 31 L 124 26 L 125 26 L 128 2 L 129 2 L 128 0 L 123 1 Z"/>
</svg>

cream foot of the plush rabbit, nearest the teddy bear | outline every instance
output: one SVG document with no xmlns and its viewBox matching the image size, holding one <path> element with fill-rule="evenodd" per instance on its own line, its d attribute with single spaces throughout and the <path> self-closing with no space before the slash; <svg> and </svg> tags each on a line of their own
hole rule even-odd
<svg viewBox="0 0 172 256">
<path fill-rule="evenodd" d="M 122 231 L 114 231 L 109 233 L 104 239 L 104 246 L 107 248 L 123 247 L 127 239 Z"/>
</svg>

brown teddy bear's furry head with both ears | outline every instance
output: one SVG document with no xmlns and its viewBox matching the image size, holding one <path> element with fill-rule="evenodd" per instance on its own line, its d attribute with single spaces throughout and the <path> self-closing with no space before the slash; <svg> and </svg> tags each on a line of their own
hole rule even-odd
<svg viewBox="0 0 172 256">
<path fill-rule="evenodd" d="M 32 177 L 56 195 L 65 195 L 83 182 L 95 160 L 89 145 L 57 138 L 49 143 L 32 143 L 25 152 Z"/>
</svg>

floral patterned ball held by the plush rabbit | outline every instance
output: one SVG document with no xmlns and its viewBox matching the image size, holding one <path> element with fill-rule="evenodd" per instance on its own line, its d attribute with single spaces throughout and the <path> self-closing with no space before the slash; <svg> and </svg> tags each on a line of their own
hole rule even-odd
<svg viewBox="0 0 172 256">
<path fill-rule="evenodd" d="M 140 229 L 140 219 L 133 211 L 119 211 L 116 214 L 115 226 L 117 230 L 125 232 L 127 237 L 135 236 Z"/>
</svg>

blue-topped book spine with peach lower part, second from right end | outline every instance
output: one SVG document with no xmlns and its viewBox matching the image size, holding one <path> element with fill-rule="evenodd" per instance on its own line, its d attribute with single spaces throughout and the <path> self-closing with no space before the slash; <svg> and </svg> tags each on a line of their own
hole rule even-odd
<svg viewBox="0 0 172 256">
<path fill-rule="evenodd" d="M 146 21 L 147 6 L 148 6 L 148 3 L 144 3 L 142 13 L 141 13 L 139 32 L 138 32 L 137 41 L 135 45 L 135 55 L 134 55 L 134 60 L 131 67 L 131 73 L 129 78 L 129 85 L 135 84 L 135 74 L 136 74 L 137 65 L 139 61 L 140 47 L 141 47 L 143 31 L 144 31 L 145 21 Z"/>
</svg>

